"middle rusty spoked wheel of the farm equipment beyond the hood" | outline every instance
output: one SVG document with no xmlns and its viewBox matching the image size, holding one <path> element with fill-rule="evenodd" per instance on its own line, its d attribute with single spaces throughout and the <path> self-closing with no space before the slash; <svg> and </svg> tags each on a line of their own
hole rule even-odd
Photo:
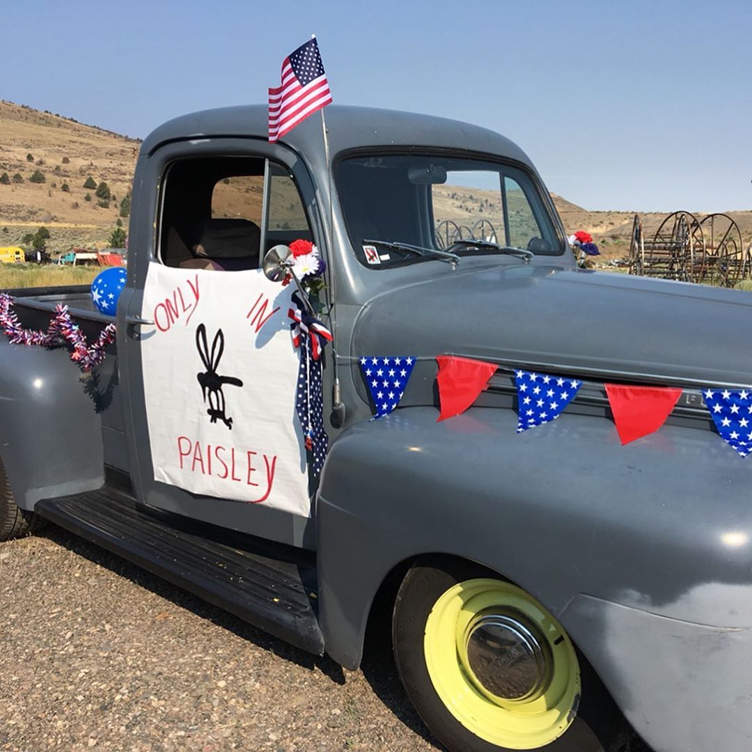
<svg viewBox="0 0 752 752">
<path fill-rule="evenodd" d="M 650 276 L 699 282 L 705 270 L 705 239 L 697 217 L 689 211 L 669 214 L 645 245 Z"/>
</svg>

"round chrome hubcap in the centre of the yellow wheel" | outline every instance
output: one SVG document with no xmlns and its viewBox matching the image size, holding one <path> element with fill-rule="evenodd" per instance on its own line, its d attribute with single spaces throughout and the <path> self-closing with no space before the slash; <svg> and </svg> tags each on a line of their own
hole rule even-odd
<svg viewBox="0 0 752 752">
<path fill-rule="evenodd" d="M 551 660 L 537 632 L 514 611 L 478 614 L 465 631 L 462 656 L 475 687 L 497 703 L 541 696 L 550 683 Z"/>
</svg>

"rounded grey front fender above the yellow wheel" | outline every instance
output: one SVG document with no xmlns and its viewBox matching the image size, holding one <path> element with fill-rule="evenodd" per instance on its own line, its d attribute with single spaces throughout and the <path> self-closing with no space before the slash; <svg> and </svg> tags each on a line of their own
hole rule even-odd
<svg viewBox="0 0 752 752">
<path fill-rule="evenodd" d="M 734 587 L 715 588 L 722 603 L 683 605 L 698 588 L 752 584 L 750 547 L 729 556 L 719 534 L 746 524 L 749 470 L 713 432 L 666 425 L 623 447 L 601 416 L 565 413 L 522 434 L 508 409 L 436 417 L 402 408 L 332 443 L 317 562 L 326 650 L 341 665 L 359 666 L 387 575 L 426 553 L 499 572 L 565 627 L 580 593 L 718 626 L 739 626 L 723 623 L 733 609 L 752 625 L 752 606 L 725 595 Z M 723 504 L 711 505 L 719 477 Z M 600 635 L 577 632 L 587 656 Z"/>
</svg>

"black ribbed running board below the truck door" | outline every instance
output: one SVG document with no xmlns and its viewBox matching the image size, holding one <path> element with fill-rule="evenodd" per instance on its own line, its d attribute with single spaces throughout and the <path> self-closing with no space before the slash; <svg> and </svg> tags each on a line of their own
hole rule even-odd
<svg viewBox="0 0 752 752">
<path fill-rule="evenodd" d="M 323 655 L 323 635 L 311 605 L 316 593 L 305 586 L 299 563 L 186 532 L 107 486 L 44 499 L 35 511 L 253 626 Z"/>
</svg>

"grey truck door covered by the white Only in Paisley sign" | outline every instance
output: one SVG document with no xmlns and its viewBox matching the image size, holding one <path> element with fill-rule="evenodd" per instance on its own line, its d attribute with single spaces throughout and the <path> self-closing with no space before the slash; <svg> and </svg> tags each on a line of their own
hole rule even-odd
<svg viewBox="0 0 752 752">
<path fill-rule="evenodd" d="M 139 166 L 137 180 L 159 190 L 150 243 L 130 240 L 132 480 L 149 507 L 312 547 L 295 286 L 268 280 L 260 262 L 275 244 L 317 241 L 314 192 L 284 147 L 251 143 L 171 144 Z M 323 396 L 329 371 L 324 362 Z"/>
</svg>

